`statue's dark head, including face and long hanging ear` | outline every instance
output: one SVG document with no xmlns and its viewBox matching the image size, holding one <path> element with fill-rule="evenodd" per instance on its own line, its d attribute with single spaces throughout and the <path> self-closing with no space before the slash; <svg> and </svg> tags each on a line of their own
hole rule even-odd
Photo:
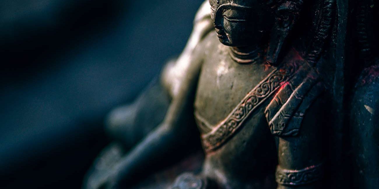
<svg viewBox="0 0 379 189">
<path fill-rule="evenodd" d="M 273 64 L 299 14 L 302 0 L 209 0 L 211 17 L 222 44 L 233 47 L 269 44 Z M 266 34 L 266 35 L 265 35 Z M 263 36 L 270 36 L 265 42 Z"/>
</svg>

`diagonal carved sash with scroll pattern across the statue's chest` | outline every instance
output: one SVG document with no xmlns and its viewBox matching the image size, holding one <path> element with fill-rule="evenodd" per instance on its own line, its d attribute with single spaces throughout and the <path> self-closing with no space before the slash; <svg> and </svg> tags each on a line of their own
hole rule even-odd
<svg viewBox="0 0 379 189">
<path fill-rule="evenodd" d="M 283 82 L 288 81 L 299 69 L 297 61 L 284 64 L 272 71 L 263 81 L 254 87 L 242 99 L 224 121 L 214 127 L 211 132 L 202 135 L 205 151 L 215 150 L 229 139 L 241 126 L 245 119 L 269 96 L 280 88 Z"/>
</svg>

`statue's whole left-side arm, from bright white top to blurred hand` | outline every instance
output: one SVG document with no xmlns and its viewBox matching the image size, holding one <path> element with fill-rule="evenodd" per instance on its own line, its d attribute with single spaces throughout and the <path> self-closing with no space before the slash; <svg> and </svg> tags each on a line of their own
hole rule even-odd
<svg viewBox="0 0 379 189">
<path fill-rule="evenodd" d="M 196 14 L 193 31 L 182 54 L 166 65 L 161 73 L 161 82 L 172 97 L 164 121 L 117 162 L 111 174 L 102 178 L 102 181 L 96 181 L 100 185 L 95 183 L 88 188 L 128 183 L 128 179 L 135 178 L 136 174 L 147 174 L 149 167 L 167 159 L 165 157 L 186 150 L 183 144 L 188 144 L 186 142 L 196 132 L 190 119 L 193 119 L 193 97 L 203 57 L 203 52 L 197 50 L 197 46 L 211 30 L 213 22 L 206 0 Z"/>
</svg>

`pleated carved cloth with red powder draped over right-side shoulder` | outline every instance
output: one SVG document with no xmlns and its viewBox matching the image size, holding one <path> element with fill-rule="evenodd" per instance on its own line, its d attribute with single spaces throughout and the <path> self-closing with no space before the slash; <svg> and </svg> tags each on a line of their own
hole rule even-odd
<svg viewBox="0 0 379 189">
<path fill-rule="evenodd" d="M 276 136 L 296 136 L 305 113 L 324 91 L 318 72 L 305 60 L 298 62 L 298 70 L 284 83 L 265 109 L 271 133 Z"/>
</svg>

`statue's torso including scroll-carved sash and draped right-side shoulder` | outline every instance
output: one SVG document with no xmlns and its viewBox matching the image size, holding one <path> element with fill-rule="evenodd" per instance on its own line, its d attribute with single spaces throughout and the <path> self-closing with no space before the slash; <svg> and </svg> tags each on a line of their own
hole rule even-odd
<svg viewBox="0 0 379 189">
<path fill-rule="evenodd" d="M 194 115 L 206 152 L 203 174 L 226 188 L 273 188 L 276 136 L 298 136 L 323 91 L 318 72 L 293 49 L 269 66 L 235 62 L 214 34 L 199 48 L 204 58 Z"/>
</svg>

